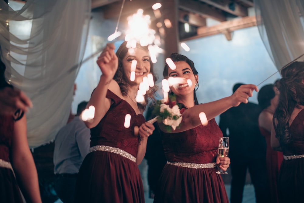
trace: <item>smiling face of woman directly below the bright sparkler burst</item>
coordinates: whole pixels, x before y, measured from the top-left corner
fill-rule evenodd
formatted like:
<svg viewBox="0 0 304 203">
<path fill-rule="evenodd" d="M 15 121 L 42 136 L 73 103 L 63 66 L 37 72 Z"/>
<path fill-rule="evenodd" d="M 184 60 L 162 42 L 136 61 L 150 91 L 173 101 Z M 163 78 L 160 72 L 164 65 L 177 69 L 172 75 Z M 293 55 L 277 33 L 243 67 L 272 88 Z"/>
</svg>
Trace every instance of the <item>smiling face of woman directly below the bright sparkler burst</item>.
<svg viewBox="0 0 304 203">
<path fill-rule="evenodd" d="M 135 80 L 130 81 L 131 77 L 131 64 L 132 61 L 136 60 L 136 69 L 135 69 Z M 122 61 L 123 70 L 125 77 L 128 78 L 130 83 L 140 84 L 143 81 L 143 77 L 147 76 L 150 73 L 150 56 L 146 50 L 135 48 L 133 52 L 129 52 L 123 58 Z"/>
</svg>

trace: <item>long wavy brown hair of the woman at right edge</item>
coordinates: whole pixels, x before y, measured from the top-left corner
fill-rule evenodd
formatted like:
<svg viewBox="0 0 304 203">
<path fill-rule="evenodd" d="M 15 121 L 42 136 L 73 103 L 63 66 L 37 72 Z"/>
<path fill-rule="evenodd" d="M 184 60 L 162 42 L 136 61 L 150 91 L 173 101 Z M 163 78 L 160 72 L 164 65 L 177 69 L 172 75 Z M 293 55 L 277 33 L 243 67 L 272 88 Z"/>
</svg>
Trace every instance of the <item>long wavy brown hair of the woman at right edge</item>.
<svg viewBox="0 0 304 203">
<path fill-rule="evenodd" d="M 304 105 L 304 62 L 289 64 L 282 69 L 281 74 L 282 79 L 276 83 L 280 99 L 273 119 L 278 120 L 276 137 L 281 143 L 288 143 L 291 141 L 288 124 L 290 116 L 294 108 Z"/>
</svg>

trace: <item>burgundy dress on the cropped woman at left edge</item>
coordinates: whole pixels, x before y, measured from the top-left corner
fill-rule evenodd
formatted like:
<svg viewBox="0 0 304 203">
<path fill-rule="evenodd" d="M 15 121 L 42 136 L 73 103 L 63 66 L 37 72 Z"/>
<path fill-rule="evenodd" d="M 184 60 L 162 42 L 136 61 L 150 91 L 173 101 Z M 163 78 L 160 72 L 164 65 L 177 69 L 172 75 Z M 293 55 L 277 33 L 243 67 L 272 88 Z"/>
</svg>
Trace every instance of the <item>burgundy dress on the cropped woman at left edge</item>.
<svg viewBox="0 0 304 203">
<path fill-rule="evenodd" d="M 0 115 L 0 202 L 23 202 L 20 190 L 8 167 L 14 120 L 12 116 Z"/>
</svg>

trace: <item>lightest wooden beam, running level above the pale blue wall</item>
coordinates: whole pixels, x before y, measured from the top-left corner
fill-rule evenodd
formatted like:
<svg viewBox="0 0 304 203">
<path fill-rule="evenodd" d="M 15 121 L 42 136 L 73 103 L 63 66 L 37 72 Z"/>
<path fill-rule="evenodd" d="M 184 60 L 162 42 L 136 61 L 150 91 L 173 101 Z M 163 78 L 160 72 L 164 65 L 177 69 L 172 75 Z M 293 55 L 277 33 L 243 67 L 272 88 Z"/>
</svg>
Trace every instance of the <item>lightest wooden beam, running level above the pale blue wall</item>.
<svg viewBox="0 0 304 203">
<path fill-rule="evenodd" d="M 221 24 L 215 26 L 200 27 L 197 29 L 196 36 L 183 39 L 182 41 L 198 39 L 201 37 L 212 36 L 221 33 L 225 34 L 227 40 L 229 40 L 229 38 L 231 39 L 229 33 L 233 32 L 234 30 L 252 27 L 256 25 L 257 25 L 257 20 L 255 16 L 247 16 L 240 19 L 222 22 Z"/>
</svg>

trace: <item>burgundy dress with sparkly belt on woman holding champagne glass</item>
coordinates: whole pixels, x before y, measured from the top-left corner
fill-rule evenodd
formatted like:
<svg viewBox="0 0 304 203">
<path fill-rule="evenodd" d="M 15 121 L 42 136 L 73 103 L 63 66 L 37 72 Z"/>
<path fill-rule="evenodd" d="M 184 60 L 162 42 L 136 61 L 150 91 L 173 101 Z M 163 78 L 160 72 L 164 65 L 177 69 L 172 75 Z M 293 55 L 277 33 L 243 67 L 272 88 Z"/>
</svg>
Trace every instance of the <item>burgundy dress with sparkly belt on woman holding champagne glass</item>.
<svg viewBox="0 0 304 203">
<path fill-rule="evenodd" d="M 222 131 L 215 119 L 207 126 L 179 133 L 162 133 L 168 162 L 215 163 Z M 187 164 L 189 165 L 189 164 Z M 166 164 L 155 193 L 154 203 L 229 202 L 220 174 L 212 168 L 189 168 Z"/>
</svg>

